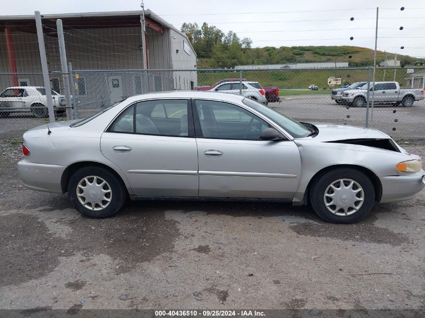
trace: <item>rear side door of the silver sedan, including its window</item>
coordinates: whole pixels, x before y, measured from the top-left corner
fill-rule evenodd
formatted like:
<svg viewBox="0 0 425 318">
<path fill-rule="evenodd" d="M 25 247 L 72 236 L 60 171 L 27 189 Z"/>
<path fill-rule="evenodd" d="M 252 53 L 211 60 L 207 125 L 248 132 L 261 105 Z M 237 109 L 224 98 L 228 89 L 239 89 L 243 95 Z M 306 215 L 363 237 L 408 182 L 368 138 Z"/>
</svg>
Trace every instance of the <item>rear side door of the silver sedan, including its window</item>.
<svg viewBox="0 0 425 318">
<path fill-rule="evenodd" d="M 102 134 L 101 151 L 138 196 L 198 195 L 198 152 L 187 99 L 130 105 Z"/>
</svg>

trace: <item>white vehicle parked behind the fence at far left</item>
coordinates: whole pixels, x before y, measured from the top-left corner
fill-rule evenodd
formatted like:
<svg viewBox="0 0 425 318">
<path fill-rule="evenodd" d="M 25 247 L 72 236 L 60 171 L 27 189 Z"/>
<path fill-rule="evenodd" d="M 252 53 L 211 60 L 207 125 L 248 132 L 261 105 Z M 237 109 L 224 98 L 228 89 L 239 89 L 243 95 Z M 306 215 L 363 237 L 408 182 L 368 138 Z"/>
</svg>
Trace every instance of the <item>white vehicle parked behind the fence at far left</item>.
<svg viewBox="0 0 425 318">
<path fill-rule="evenodd" d="M 66 111 L 65 96 L 52 89 L 53 109 L 55 113 Z M 34 117 L 43 118 L 47 111 L 46 89 L 39 86 L 14 86 L 0 93 L 0 117 L 11 113 L 31 112 Z"/>
</svg>

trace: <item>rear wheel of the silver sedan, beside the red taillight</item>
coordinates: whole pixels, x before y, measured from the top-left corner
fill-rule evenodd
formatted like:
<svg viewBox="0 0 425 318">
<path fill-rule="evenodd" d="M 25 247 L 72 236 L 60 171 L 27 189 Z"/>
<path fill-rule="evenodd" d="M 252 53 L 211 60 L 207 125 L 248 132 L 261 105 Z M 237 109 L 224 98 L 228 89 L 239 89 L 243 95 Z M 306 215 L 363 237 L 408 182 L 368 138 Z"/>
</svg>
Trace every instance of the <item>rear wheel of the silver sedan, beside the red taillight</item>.
<svg viewBox="0 0 425 318">
<path fill-rule="evenodd" d="M 108 218 L 122 207 L 126 190 L 122 181 L 102 167 L 84 167 L 69 179 L 68 196 L 76 209 L 89 218 Z"/>
</svg>

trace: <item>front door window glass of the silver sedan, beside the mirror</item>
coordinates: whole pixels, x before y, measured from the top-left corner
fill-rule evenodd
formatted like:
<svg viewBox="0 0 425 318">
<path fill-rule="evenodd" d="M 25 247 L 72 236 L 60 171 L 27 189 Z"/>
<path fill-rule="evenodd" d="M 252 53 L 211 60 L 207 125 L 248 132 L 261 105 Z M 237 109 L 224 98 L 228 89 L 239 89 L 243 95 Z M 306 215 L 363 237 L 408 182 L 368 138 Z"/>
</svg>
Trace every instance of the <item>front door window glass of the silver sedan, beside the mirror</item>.
<svg viewBox="0 0 425 318">
<path fill-rule="evenodd" d="M 202 135 L 209 138 L 260 140 L 269 127 L 261 118 L 238 107 L 214 100 L 196 100 Z"/>
</svg>

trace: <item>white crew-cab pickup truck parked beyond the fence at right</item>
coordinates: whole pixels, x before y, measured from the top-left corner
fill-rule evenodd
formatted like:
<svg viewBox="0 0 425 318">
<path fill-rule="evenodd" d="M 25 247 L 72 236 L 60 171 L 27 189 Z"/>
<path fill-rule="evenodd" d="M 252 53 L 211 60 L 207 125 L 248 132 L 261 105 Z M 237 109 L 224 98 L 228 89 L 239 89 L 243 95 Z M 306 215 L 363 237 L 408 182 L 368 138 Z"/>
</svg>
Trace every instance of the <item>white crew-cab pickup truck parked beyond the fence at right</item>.
<svg viewBox="0 0 425 318">
<path fill-rule="evenodd" d="M 343 92 L 341 100 L 353 105 L 353 107 L 364 107 L 366 105 L 368 85 L 350 89 Z M 404 107 L 412 107 L 415 100 L 423 99 L 423 89 L 420 88 L 400 88 L 398 82 L 375 82 L 375 87 L 370 84 L 370 98 L 374 92 L 374 103 L 377 104 L 402 104 Z"/>
</svg>

